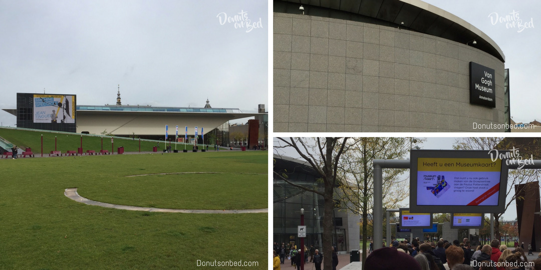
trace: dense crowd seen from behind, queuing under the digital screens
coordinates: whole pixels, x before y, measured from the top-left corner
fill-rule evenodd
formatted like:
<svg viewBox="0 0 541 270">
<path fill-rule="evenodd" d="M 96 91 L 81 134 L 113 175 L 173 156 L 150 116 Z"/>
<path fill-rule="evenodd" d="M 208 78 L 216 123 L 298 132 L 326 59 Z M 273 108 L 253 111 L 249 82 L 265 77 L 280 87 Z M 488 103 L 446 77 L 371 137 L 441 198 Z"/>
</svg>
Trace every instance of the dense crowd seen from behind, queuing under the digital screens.
<svg viewBox="0 0 541 270">
<path fill-rule="evenodd" d="M 531 246 L 529 246 L 531 252 Z M 414 270 L 541 270 L 541 253 L 529 263 L 521 247 L 511 249 L 494 239 L 490 245 L 473 251 L 470 241 L 440 239 L 438 242 L 413 239 L 391 242 L 389 247 L 376 249 L 365 261 L 366 269 Z"/>
</svg>

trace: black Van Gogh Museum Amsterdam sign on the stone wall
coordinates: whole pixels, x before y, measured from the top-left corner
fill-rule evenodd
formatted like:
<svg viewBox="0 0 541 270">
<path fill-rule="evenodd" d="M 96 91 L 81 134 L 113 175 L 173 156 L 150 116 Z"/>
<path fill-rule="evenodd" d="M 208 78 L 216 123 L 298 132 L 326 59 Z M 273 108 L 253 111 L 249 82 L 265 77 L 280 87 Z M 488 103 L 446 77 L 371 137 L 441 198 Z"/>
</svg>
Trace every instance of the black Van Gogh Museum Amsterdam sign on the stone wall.
<svg viewBox="0 0 541 270">
<path fill-rule="evenodd" d="M 496 107 L 494 70 L 470 62 L 470 103 Z"/>
</svg>

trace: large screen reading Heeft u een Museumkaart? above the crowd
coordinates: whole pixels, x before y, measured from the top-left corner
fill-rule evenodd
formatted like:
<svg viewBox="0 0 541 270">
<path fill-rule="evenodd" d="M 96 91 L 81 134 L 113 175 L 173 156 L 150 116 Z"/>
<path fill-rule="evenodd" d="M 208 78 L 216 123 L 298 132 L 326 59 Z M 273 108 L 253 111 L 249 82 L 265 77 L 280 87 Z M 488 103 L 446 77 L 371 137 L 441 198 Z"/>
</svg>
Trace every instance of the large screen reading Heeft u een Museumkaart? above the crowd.
<svg viewBox="0 0 541 270">
<path fill-rule="evenodd" d="M 504 211 L 507 164 L 489 151 L 412 150 L 410 177 L 412 211 Z"/>
</svg>

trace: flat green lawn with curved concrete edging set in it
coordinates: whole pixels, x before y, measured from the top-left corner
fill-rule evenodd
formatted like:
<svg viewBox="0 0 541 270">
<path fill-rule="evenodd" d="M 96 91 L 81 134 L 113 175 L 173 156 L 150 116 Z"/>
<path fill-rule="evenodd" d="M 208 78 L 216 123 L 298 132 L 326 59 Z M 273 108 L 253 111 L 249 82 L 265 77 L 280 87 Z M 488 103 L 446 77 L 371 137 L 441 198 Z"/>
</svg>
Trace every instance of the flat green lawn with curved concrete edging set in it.
<svg viewBox="0 0 541 270">
<path fill-rule="evenodd" d="M 122 205 L 267 208 L 266 151 L 4 159 L 0 168 L 0 269 L 267 268 L 268 214 L 125 211 L 64 196 L 77 187 Z M 219 173 L 127 177 L 180 172 Z"/>
</svg>

